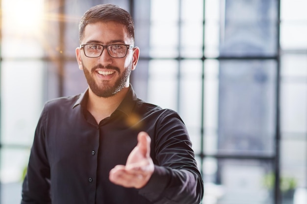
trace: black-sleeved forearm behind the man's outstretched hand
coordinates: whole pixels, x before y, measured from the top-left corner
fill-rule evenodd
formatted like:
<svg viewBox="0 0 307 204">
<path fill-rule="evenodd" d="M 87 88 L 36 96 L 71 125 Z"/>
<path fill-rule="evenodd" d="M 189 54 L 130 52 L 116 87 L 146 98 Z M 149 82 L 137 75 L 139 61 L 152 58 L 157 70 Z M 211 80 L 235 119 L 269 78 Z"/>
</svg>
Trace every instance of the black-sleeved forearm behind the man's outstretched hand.
<svg viewBox="0 0 307 204">
<path fill-rule="evenodd" d="M 203 191 L 199 173 L 155 166 L 151 180 L 139 193 L 154 204 L 200 204 Z"/>
</svg>

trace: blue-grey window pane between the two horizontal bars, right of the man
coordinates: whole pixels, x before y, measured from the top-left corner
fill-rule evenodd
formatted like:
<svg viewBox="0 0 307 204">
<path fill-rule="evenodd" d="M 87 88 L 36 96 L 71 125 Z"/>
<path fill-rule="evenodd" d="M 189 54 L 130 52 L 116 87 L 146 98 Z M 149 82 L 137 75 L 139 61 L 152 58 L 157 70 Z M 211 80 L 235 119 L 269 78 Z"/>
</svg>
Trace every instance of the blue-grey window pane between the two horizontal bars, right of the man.
<svg viewBox="0 0 307 204">
<path fill-rule="evenodd" d="M 274 61 L 221 62 L 218 113 L 221 153 L 273 153 L 275 83 Z"/>
</svg>

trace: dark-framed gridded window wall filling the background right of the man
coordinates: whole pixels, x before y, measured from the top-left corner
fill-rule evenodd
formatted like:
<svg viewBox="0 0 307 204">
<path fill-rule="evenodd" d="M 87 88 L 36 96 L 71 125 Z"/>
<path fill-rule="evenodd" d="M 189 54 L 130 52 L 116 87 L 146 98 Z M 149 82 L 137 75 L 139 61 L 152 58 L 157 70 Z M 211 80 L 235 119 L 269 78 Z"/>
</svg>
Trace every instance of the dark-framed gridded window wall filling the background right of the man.
<svg viewBox="0 0 307 204">
<path fill-rule="evenodd" d="M 150 18 L 140 18 L 143 5 L 135 4 L 136 27 L 149 25 L 150 46 L 136 38 L 148 81 L 133 83 L 147 83 L 137 91 L 185 121 L 205 204 L 306 201 L 304 5 L 154 0 Z"/>
</svg>

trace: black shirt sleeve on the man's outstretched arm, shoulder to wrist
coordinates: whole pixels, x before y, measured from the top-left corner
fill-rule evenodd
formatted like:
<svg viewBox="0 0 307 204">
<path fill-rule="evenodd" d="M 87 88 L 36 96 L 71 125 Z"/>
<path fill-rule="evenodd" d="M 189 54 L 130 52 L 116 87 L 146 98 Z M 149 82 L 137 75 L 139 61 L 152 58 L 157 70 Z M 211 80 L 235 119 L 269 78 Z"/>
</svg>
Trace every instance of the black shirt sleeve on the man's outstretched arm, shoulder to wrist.
<svg viewBox="0 0 307 204">
<path fill-rule="evenodd" d="M 155 125 L 154 172 L 139 193 L 154 204 L 200 204 L 204 183 L 184 123 L 165 110 Z"/>
</svg>

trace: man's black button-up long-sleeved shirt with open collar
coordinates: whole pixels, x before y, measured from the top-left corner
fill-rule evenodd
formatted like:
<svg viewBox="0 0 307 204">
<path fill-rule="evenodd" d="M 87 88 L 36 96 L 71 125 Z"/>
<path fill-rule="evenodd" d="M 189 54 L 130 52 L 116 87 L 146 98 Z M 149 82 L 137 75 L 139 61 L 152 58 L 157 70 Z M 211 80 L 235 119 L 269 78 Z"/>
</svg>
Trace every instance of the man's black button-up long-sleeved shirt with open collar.
<svg viewBox="0 0 307 204">
<path fill-rule="evenodd" d="M 199 204 L 203 181 L 178 113 L 137 98 L 132 87 L 99 124 L 88 91 L 47 102 L 31 148 L 21 204 Z M 137 134 L 151 136 L 154 172 L 141 189 L 109 181 L 126 164 Z"/>
</svg>

